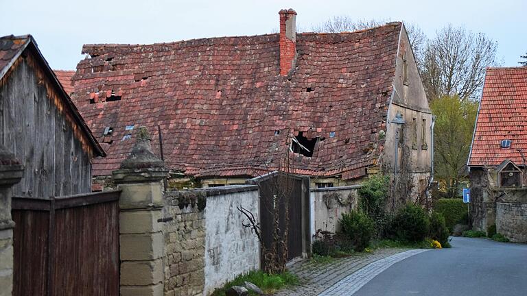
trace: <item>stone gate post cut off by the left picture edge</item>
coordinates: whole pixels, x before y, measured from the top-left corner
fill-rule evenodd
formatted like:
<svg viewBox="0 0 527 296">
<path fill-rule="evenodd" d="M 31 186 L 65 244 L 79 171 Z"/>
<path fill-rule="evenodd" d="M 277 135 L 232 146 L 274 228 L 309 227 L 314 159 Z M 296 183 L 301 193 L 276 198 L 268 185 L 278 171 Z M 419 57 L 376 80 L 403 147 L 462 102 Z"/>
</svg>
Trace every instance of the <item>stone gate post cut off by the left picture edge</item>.
<svg viewBox="0 0 527 296">
<path fill-rule="evenodd" d="M 13 290 L 12 186 L 20 182 L 24 169 L 14 155 L 0 144 L 0 296 Z"/>
</svg>

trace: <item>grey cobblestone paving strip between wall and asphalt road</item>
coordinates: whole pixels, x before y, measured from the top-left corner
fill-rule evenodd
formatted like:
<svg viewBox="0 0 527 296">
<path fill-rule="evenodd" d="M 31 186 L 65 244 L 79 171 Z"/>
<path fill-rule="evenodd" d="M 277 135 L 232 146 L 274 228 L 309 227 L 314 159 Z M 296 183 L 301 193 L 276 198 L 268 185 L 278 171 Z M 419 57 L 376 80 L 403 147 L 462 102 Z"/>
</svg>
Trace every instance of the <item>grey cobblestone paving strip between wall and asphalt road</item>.
<svg viewBox="0 0 527 296">
<path fill-rule="evenodd" d="M 281 290 L 275 296 L 351 295 L 350 289 L 358 289 L 375 275 L 395 262 L 425 251 L 422 249 L 378 249 L 372 253 L 338 258 L 331 262 L 303 260 L 290 267 L 301 280 L 301 285 Z M 378 262 L 378 263 L 377 263 Z M 376 264 L 377 263 L 377 264 Z M 369 265 L 368 265 L 369 264 Z M 362 269 L 363 267 L 366 267 Z"/>
</svg>

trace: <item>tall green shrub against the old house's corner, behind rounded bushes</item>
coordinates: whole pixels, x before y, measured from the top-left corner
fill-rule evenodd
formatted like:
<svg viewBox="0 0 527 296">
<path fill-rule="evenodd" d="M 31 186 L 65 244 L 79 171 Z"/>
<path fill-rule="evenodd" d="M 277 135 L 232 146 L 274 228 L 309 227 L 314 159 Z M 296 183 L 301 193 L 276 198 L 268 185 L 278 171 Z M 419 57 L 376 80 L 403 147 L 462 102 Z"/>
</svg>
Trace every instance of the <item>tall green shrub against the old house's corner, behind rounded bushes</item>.
<svg viewBox="0 0 527 296">
<path fill-rule="evenodd" d="M 373 220 L 377 237 L 384 236 L 390 221 L 386 212 L 389 180 L 385 175 L 372 175 L 358 190 L 360 208 Z"/>
</svg>

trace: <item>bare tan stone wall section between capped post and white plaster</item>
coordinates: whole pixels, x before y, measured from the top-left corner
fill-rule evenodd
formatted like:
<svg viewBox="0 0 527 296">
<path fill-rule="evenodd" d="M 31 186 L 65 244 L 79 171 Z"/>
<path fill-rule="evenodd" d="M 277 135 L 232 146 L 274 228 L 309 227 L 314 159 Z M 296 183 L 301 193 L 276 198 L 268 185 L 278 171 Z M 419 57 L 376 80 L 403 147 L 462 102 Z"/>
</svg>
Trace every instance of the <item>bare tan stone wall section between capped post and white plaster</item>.
<svg viewBox="0 0 527 296">
<path fill-rule="evenodd" d="M 165 194 L 165 296 L 196 296 L 203 293 L 206 202 L 203 192 L 175 191 Z"/>
</svg>

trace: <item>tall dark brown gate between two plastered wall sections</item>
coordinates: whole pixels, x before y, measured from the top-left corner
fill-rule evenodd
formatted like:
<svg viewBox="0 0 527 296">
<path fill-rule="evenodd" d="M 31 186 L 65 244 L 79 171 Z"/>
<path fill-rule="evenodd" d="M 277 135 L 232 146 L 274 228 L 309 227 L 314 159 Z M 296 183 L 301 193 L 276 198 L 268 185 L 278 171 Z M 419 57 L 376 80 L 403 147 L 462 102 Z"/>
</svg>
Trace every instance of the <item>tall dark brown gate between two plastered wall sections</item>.
<svg viewBox="0 0 527 296">
<path fill-rule="evenodd" d="M 283 234 L 285 205 L 288 204 L 288 260 L 308 255 L 311 251 L 309 177 L 274 172 L 249 180 L 248 183 L 257 184 L 259 188 L 259 221 L 263 247 L 270 248 L 272 245 L 273 209 L 277 209 L 279 212 L 279 230 L 280 234 Z M 285 198 L 276 198 L 274 197 L 276 195 L 282 195 Z M 273 206 L 274 203 L 277 203 L 276 207 Z M 260 262 L 261 267 L 264 267 L 263 254 Z"/>
</svg>

